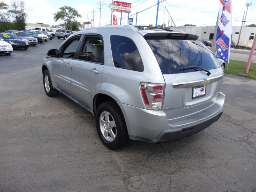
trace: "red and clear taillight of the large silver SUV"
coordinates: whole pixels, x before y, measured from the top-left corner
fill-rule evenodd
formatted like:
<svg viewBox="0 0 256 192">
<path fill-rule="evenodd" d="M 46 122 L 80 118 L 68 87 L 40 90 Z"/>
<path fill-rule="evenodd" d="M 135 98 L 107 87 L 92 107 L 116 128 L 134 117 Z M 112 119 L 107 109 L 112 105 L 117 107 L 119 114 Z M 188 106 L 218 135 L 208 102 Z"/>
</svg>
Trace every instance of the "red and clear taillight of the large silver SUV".
<svg viewBox="0 0 256 192">
<path fill-rule="evenodd" d="M 140 83 L 140 91 L 147 109 L 162 110 L 164 84 Z"/>
</svg>

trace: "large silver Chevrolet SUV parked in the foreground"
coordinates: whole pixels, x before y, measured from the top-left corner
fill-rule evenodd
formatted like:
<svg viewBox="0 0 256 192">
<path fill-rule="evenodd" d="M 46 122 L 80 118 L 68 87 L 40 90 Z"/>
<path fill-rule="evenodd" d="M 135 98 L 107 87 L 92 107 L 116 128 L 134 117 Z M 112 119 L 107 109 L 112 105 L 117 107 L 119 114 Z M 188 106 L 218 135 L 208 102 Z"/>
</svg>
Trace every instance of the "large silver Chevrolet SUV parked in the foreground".
<svg viewBox="0 0 256 192">
<path fill-rule="evenodd" d="M 62 92 L 94 114 L 112 150 L 129 139 L 179 140 L 223 112 L 222 68 L 197 38 L 131 25 L 76 32 L 45 57 L 44 90 L 50 97 Z"/>
</svg>

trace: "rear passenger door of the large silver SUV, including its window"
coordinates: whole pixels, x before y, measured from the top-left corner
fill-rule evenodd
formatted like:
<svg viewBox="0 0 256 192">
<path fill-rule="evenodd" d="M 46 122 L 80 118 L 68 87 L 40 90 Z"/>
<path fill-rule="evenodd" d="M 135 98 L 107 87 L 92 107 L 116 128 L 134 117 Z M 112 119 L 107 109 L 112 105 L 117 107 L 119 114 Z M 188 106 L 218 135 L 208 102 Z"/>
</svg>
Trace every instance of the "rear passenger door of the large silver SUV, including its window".
<svg viewBox="0 0 256 192">
<path fill-rule="evenodd" d="M 77 100 L 86 104 L 91 109 L 92 100 L 99 93 L 102 80 L 102 70 L 104 67 L 103 48 L 101 36 L 86 35 L 77 59 L 72 65 L 72 94 Z"/>
</svg>

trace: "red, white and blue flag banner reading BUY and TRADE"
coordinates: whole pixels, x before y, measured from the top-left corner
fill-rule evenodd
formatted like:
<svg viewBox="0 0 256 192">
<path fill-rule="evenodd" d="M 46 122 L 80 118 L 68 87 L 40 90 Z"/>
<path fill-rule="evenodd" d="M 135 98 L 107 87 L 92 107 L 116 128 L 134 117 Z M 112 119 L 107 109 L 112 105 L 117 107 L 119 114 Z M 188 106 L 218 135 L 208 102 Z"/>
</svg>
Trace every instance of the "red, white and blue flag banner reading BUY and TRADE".
<svg viewBox="0 0 256 192">
<path fill-rule="evenodd" d="M 230 43 L 232 34 L 231 0 L 219 0 L 219 20 L 216 35 L 217 55 L 220 59 L 229 62 Z"/>
</svg>

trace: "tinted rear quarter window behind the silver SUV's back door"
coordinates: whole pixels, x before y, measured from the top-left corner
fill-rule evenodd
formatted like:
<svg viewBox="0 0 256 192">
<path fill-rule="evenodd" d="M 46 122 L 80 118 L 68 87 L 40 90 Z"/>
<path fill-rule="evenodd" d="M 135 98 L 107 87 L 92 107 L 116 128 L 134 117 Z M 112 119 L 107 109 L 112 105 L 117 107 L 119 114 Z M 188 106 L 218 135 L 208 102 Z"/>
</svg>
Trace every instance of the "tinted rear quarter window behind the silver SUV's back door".
<svg viewBox="0 0 256 192">
<path fill-rule="evenodd" d="M 127 37 L 110 36 L 112 58 L 114 66 L 133 71 L 144 71 L 140 53 L 134 42 Z"/>
</svg>

